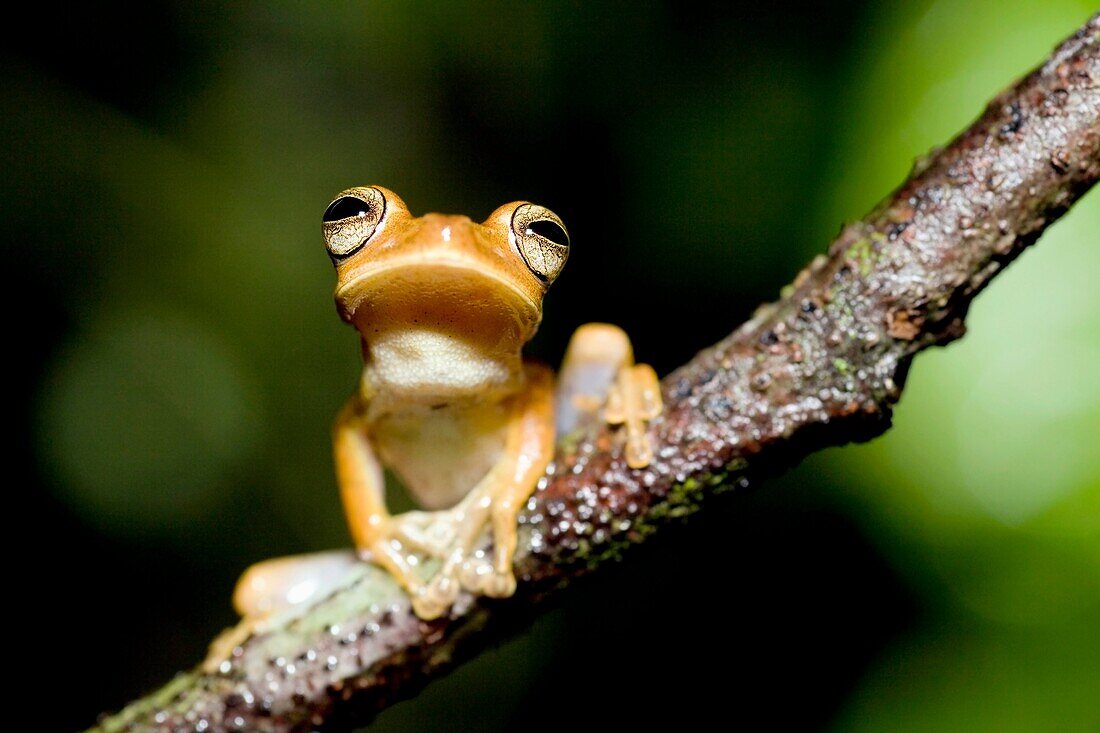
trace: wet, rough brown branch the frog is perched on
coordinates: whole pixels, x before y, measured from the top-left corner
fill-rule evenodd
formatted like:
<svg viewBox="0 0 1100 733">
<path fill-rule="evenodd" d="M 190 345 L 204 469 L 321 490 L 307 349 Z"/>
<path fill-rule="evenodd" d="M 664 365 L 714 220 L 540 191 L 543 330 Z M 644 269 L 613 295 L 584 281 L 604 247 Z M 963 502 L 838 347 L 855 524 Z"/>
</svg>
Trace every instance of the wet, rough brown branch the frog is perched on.
<svg viewBox="0 0 1100 733">
<path fill-rule="evenodd" d="M 424 622 L 364 565 L 296 617 L 105 718 L 102 731 L 342 731 L 529 621 L 541 601 L 707 496 L 890 426 L 912 358 L 1100 176 L 1100 14 L 994 99 L 726 339 L 662 382 L 656 460 L 596 426 L 559 446 L 520 518 L 515 598 Z"/>
</svg>

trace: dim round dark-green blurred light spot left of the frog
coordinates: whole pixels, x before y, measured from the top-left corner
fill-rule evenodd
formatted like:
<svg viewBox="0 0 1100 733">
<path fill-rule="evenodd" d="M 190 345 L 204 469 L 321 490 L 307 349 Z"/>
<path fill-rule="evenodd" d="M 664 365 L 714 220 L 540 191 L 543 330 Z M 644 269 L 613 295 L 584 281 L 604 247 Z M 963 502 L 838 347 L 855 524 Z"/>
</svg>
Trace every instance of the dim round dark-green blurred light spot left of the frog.
<svg viewBox="0 0 1100 733">
<path fill-rule="evenodd" d="M 187 534 L 262 439 L 258 395 L 232 349 L 186 315 L 103 316 L 47 379 L 40 444 L 86 521 Z"/>
</svg>

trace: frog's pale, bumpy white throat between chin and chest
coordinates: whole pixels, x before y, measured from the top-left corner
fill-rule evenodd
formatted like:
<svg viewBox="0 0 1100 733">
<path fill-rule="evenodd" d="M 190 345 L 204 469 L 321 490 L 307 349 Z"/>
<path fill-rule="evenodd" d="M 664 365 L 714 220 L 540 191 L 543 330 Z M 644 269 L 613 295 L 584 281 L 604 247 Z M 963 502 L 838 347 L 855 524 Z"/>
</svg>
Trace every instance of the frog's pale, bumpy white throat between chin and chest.
<svg viewBox="0 0 1100 733">
<path fill-rule="evenodd" d="M 522 384 L 518 349 L 403 328 L 363 342 L 363 396 L 372 412 L 439 409 L 498 400 Z"/>
</svg>

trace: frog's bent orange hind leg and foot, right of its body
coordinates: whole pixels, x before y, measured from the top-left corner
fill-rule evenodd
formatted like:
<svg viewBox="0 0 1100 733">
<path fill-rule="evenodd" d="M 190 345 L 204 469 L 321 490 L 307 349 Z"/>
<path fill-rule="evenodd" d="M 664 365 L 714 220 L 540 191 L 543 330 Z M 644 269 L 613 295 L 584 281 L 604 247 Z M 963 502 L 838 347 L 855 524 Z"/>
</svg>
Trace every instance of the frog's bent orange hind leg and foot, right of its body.
<svg viewBox="0 0 1100 733">
<path fill-rule="evenodd" d="M 604 406 L 604 419 L 626 431 L 626 461 L 645 468 L 653 459 L 646 436 L 661 414 L 661 385 L 649 364 L 634 363 L 626 332 L 609 324 L 585 324 L 573 333 L 558 379 L 558 434 L 576 428 Z"/>
</svg>

